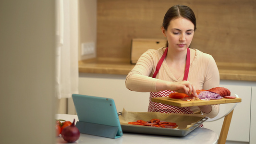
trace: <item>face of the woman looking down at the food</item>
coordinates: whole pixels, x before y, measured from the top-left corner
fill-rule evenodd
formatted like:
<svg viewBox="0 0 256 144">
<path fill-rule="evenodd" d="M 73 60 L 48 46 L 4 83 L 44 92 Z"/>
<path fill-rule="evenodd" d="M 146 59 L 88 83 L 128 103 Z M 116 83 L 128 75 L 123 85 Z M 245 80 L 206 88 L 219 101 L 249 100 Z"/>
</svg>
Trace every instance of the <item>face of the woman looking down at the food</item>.
<svg viewBox="0 0 256 144">
<path fill-rule="evenodd" d="M 194 24 L 183 17 L 172 19 L 167 30 L 162 27 L 162 32 L 167 38 L 169 48 L 178 51 L 189 47 L 194 36 Z"/>
</svg>

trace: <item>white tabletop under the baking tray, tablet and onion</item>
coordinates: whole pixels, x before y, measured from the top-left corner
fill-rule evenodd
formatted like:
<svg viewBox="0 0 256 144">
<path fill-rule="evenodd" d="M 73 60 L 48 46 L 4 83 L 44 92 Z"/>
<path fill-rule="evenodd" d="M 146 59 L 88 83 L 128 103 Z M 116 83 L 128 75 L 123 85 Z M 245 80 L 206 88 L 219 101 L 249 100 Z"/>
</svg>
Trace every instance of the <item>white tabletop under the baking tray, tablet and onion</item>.
<svg viewBox="0 0 256 144">
<path fill-rule="evenodd" d="M 56 119 L 73 121 L 77 115 L 56 114 Z M 196 128 L 184 137 L 171 137 L 138 133 L 123 133 L 121 138 L 110 139 L 89 134 L 80 134 L 80 138 L 73 144 L 217 144 L 218 134 L 206 129 Z M 57 144 L 66 143 L 63 138 L 57 137 Z"/>
</svg>

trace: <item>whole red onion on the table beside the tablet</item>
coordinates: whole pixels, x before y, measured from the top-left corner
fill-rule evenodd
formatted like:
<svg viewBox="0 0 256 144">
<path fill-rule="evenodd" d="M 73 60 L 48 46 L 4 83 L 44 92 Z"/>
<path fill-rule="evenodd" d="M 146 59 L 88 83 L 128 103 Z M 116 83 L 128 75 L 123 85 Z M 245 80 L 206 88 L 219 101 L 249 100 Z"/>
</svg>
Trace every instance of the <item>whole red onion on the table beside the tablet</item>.
<svg viewBox="0 0 256 144">
<path fill-rule="evenodd" d="M 73 143 L 79 139 L 80 132 L 77 127 L 75 127 L 74 120 L 70 126 L 67 126 L 62 130 L 61 136 L 65 141 L 69 143 Z"/>
</svg>

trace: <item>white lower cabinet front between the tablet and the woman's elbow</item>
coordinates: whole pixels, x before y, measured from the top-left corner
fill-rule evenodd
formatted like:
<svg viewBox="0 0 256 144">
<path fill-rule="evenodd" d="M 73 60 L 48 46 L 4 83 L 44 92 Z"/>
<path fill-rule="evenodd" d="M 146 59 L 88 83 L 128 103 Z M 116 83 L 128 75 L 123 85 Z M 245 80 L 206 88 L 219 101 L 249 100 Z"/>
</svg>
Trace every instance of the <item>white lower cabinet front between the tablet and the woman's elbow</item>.
<svg viewBox="0 0 256 144">
<path fill-rule="evenodd" d="M 113 98 L 117 111 L 147 111 L 149 93 L 125 87 L 125 75 L 79 73 L 79 94 Z"/>
</svg>

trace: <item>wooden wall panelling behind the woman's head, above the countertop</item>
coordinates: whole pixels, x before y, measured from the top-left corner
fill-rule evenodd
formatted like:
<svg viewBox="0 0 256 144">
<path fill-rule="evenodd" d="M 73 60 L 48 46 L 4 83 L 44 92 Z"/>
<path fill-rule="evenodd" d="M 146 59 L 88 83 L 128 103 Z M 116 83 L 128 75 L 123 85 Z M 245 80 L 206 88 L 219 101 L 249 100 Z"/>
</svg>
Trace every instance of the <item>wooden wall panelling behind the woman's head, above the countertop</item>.
<svg viewBox="0 0 256 144">
<path fill-rule="evenodd" d="M 164 38 L 162 20 L 175 4 L 195 12 L 192 48 L 217 62 L 256 63 L 255 0 L 98 0 L 98 57 L 129 61 L 133 38 Z"/>
</svg>

